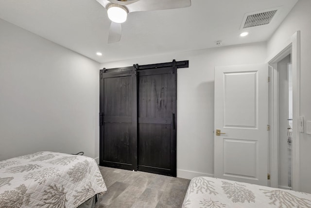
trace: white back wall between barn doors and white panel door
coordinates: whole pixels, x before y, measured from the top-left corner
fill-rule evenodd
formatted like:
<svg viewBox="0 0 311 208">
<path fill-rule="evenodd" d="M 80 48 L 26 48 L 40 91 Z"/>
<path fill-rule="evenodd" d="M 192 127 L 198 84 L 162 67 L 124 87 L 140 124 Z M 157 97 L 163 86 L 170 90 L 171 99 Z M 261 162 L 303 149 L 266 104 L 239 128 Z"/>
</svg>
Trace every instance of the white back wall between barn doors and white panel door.
<svg viewBox="0 0 311 208">
<path fill-rule="evenodd" d="M 214 173 L 214 67 L 264 63 L 265 43 L 163 54 L 104 63 L 114 68 L 189 60 L 177 70 L 177 176 L 212 176 Z"/>
</svg>

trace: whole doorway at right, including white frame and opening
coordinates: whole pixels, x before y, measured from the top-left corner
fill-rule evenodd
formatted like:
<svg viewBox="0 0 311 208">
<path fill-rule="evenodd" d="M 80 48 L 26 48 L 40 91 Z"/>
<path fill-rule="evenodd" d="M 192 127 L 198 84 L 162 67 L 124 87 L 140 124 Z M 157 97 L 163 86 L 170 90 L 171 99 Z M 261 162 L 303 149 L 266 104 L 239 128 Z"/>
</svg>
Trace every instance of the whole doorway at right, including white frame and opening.
<svg viewBox="0 0 311 208">
<path fill-rule="evenodd" d="M 299 190 L 300 32 L 269 64 L 270 186 Z"/>
</svg>

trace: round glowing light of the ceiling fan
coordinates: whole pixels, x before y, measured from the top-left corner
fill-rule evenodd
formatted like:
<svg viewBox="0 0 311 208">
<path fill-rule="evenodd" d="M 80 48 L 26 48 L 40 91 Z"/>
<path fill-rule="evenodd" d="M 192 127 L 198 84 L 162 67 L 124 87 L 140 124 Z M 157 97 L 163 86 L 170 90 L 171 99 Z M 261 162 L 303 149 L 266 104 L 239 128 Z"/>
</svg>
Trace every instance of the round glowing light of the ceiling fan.
<svg viewBox="0 0 311 208">
<path fill-rule="evenodd" d="M 128 10 L 125 6 L 119 4 L 110 4 L 107 7 L 107 14 L 111 21 L 116 23 L 123 23 L 127 19 Z"/>
</svg>

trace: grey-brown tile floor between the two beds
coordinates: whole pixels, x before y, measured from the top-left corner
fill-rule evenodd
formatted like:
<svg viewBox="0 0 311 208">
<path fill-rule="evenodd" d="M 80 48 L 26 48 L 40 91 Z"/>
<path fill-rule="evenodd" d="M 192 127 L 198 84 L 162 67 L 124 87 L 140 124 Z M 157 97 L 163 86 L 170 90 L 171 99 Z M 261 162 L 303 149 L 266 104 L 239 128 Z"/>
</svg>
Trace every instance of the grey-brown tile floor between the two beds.
<svg viewBox="0 0 311 208">
<path fill-rule="evenodd" d="M 101 167 L 108 191 L 95 208 L 180 208 L 190 180 Z"/>
</svg>

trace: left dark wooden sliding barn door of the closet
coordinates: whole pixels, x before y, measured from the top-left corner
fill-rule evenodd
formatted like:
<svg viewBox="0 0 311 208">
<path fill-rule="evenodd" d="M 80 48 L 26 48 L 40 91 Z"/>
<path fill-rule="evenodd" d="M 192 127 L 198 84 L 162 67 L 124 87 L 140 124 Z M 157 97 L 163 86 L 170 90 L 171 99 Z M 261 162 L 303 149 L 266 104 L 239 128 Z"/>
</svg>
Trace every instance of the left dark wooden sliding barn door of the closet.
<svg viewBox="0 0 311 208">
<path fill-rule="evenodd" d="M 100 165 L 137 170 L 137 76 L 101 70 Z"/>
</svg>

